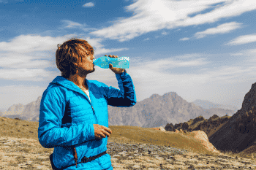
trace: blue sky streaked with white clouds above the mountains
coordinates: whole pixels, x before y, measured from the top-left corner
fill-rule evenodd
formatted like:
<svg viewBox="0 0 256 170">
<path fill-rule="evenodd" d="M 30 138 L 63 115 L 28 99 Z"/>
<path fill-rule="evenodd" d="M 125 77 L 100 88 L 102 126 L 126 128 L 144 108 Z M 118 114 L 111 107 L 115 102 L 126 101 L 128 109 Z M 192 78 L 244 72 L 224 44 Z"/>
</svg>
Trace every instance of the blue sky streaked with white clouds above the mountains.
<svg viewBox="0 0 256 170">
<path fill-rule="evenodd" d="M 256 80 L 255 0 L 0 0 L 1 109 L 42 96 L 61 72 L 57 45 L 129 57 L 137 101 L 176 92 L 241 109 Z M 118 88 L 110 69 L 88 80 Z"/>
</svg>

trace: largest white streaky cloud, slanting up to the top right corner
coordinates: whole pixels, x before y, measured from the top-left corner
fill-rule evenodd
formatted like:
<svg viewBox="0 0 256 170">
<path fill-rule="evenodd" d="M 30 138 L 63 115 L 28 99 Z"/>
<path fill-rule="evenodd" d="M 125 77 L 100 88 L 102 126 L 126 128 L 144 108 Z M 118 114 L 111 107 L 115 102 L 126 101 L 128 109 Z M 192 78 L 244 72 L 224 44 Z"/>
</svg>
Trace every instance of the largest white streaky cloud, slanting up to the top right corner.
<svg viewBox="0 0 256 170">
<path fill-rule="evenodd" d="M 223 4 L 212 6 L 217 3 Z M 163 28 L 197 26 L 214 23 L 222 18 L 238 16 L 256 9 L 256 3 L 252 0 L 138 0 L 129 5 L 127 9 L 133 11 L 135 15 L 118 20 L 112 26 L 93 31 L 91 34 L 123 42 Z M 206 9 L 212 10 L 200 14 Z M 192 14 L 196 15 L 189 17 Z"/>
</svg>

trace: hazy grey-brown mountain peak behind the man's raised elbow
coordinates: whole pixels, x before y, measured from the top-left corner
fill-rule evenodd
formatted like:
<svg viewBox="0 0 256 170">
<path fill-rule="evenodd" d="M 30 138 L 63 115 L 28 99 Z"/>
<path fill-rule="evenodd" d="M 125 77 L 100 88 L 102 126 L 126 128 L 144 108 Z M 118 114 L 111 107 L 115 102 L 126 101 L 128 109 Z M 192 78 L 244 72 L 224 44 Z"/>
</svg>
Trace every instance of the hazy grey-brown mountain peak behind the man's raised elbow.
<svg viewBox="0 0 256 170">
<path fill-rule="evenodd" d="M 110 125 L 132 125 L 143 128 L 165 126 L 167 123 L 177 123 L 186 117 L 205 115 L 202 108 L 189 104 L 175 92 L 163 96 L 153 94 L 151 97 L 137 102 L 128 108 L 108 107 Z"/>
</svg>

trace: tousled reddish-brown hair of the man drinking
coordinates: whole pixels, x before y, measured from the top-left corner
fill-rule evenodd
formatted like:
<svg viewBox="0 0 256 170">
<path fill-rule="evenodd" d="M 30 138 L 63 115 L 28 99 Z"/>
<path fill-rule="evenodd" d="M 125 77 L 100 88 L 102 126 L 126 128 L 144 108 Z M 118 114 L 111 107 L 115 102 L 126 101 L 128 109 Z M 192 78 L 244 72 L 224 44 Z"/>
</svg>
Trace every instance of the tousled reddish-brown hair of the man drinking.
<svg viewBox="0 0 256 170">
<path fill-rule="evenodd" d="M 70 74 L 75 74 L 79 58 L 82 61 L 83 55 L 94 55 L 94 48 L 83 39 L 69 39 L 62 45 L 58 45 L 56 50 L 56 65 L 61 71 L 61 76 L 68 78 Z"/>
</svg>

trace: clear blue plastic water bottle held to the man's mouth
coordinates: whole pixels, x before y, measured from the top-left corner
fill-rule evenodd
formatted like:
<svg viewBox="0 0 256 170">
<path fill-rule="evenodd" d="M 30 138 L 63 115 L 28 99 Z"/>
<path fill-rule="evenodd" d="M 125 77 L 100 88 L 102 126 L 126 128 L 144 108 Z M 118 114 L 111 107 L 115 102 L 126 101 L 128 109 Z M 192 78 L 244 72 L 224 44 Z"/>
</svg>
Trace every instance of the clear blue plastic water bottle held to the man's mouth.
<svg viewBox="0 0 256 170">
<path fill-rule="evenodd" d="M 110 63 L 116 68 L 129 69 L 129 57 L 110 58 L 108 56 L 102 56 L 94 59 L 93 62 L 94 65 L 99 66 L 102 69 L 108 69 Z"/>
</svg>

